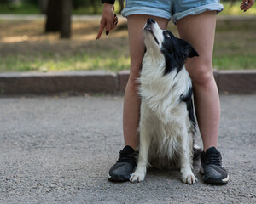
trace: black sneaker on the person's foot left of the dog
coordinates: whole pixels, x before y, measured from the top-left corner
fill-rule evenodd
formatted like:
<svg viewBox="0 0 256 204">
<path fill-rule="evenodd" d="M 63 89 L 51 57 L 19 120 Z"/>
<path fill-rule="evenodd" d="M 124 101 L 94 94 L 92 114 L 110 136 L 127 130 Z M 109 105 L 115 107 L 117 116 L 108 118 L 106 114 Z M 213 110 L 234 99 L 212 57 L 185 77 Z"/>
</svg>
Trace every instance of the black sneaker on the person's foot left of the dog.
<svg viewBox="0 0 256 204">
<path fill-rule="evenodd" d="M 131 146 L 125 146 L 119 154 L 119 160 L 109 170 L 108 179 L 110 181 L 129 181 L 131 173 L 137 166 L 137 152 Z"/>
</svg>

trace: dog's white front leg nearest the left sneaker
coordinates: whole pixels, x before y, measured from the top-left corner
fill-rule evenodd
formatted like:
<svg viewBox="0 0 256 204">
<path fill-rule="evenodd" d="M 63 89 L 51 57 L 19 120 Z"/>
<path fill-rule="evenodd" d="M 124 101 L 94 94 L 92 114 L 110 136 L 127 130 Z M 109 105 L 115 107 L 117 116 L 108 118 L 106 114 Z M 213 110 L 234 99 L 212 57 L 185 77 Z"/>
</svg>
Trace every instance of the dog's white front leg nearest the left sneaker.
<svg viewBox="0 0 256 204">
<path fill-rule="evenodd" d="M 142 117 L 143 118 L 143 117 Z M 151 143 L 151 138 L 148 133 L 147 127 L 145 126 L 146 122 L 141 122 L 140 125 L 140 149 L 137 168 L 134 173 L 131 174 L 130 181 L 133 182 L 142 182 L 146 176 L 147 164 L 148 164 L 148 149 Z"/>
</svg>

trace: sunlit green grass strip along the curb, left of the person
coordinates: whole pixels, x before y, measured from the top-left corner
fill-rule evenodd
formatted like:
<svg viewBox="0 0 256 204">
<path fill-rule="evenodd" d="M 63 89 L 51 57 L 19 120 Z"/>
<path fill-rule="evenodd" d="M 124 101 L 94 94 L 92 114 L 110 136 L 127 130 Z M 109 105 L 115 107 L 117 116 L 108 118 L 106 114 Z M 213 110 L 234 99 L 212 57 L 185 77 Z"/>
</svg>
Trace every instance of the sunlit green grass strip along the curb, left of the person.
<svg viewBox="0 0 256 204">
<path fill-rule="evenodd" d="M 109 53 L 110 55 L 113 52 Z M 3 71 L 79 71 L 79 70 L 108 70 L 122 71 L 130 68 L 130 59 L 119 56 L 101 57 L 99 54 L 74 54 L 71 56 L 58 56 L 55 54 L 34 55 L 32 58 L 18 55 L 0 59 L 1 72 Z"/>
</svg>

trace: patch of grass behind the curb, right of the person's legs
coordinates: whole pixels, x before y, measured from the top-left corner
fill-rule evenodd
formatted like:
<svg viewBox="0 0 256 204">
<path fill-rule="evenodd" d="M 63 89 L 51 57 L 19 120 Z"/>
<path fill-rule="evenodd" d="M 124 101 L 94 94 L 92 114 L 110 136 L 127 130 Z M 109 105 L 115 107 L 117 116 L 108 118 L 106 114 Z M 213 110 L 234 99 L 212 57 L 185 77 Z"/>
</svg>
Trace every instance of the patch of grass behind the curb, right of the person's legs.
<svg viewBox="0 0 256 204">
<path fill-rule="evenodd" d="M 213 66 L 218 70 L 256 69 L 255 20 L 218 20 Z"/>
</svg>

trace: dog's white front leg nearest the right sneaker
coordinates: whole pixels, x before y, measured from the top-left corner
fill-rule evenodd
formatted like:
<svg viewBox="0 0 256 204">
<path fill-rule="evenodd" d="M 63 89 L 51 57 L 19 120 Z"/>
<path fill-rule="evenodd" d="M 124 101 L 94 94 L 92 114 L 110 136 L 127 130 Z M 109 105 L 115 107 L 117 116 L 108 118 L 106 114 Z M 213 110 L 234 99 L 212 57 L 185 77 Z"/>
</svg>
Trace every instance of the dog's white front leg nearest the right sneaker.
<svg viewBox="0 0 256 204">
<path fill-rule="evenodd" d="M 185 128 L 184 128 L 185 129 Z M 189 142 L 189 137 L 192 136 L 189 135 L 187 130 L 183 131 L 183 139 L 182 139 L 182 146 L 183 150 L 181 151 L 180 154 L 180 159 L 181 159 L 181 169 L 180 172 L 182 173 L 182 181 L 185 184 L 195 184 L 197 182 L 197 178 L 195 178 L 194 173 L 192 172 L 191 166 L 192 166 L 192 157 L 191 157 L 191 152 L 192 152 L 192 143 Z M 190 147 L 191 144 L 191 147 Z"/>
</svg>

